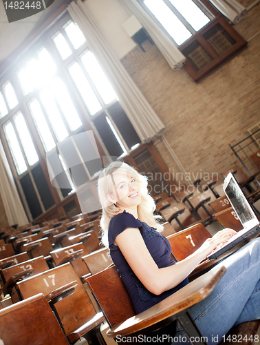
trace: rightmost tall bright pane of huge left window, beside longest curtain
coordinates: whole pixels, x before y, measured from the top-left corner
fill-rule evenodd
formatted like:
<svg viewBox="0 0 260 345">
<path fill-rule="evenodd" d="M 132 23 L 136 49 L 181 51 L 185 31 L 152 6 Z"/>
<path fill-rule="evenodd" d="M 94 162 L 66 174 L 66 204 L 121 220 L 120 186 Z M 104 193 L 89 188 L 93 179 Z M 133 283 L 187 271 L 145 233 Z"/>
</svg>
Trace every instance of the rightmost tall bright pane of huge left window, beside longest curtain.
<svg viewBox="0 0 260 345">
<path fill-rule="evenodd" d="M 94 54 L 88 51 L 83 55 L 81 60 L 105 104 L 116 99 L 116 93 L 105 76 L 105 73 L 102 71 Z"/>
</svg>

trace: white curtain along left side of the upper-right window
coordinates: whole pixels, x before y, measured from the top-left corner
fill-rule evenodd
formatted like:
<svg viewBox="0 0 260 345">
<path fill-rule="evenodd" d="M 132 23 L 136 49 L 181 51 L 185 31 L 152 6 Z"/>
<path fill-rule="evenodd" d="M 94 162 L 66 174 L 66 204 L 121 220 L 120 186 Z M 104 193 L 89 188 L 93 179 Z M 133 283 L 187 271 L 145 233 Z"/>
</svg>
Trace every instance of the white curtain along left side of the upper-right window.
<svg viewBox="0 0 260 345">
<path fill-rule="evenodd" d="M 128 10 L 128 12 L 135 14 L 139 19 L 142 26 L 147 30 L 155 45 L 158 47 L 162 55 L 169 63 L 169 66 L 173 70 L 177 70 L 182 67 L 185 57 L 178 50 L 177 46 L 170 37 L 158 26 L 149 14 L 142 8 L 137 0 L 120 0 L 120 3 Z"/>
</svg>

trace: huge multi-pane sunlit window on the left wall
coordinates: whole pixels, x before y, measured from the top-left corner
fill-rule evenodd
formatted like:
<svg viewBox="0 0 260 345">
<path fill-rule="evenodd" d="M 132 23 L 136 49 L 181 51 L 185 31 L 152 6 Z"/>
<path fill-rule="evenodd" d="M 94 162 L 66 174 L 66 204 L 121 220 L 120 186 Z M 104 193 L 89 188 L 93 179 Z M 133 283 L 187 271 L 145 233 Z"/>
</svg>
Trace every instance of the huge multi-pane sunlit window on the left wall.
<svg viewBox="0 0 260 345">
<path fill-rule="evenodd" d="M 0 80 L 1 137 L 31 219 L 55 204 L 46 154 L 89 124 L 107 155 L 125 155 L 140 143 L 83 33 L 65 14 Z M 95 168 L 84 168 L 91 179 Z M 71 191 L 58 189 L 58 196 Z"/>
</svg>

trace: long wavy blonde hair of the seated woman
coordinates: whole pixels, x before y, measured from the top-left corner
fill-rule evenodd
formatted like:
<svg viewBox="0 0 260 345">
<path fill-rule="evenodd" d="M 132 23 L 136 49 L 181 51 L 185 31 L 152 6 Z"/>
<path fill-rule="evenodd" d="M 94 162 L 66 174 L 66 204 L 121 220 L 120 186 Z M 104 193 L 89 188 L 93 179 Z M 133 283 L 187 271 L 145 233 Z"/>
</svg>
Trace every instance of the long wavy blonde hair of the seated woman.
<svg viewBox="0 0 260 345">
<path fill-rule="evenodd" d="M 102 217 L 100 219 L 100 226 L 102 228 L 102 244 L 108 247 L 108 228 L 111 218 L 117 215 L 120 212 L 120 208 L 116 205 L 111 204 L 107 200 L 107 195 L 113 193 L 113 173 L 115 172 L 124 172 L 129 177 L 136 179 L 138 184 L 140 184 L 140 191 L 142 201 L 138 205 L 138 219 L 144 221 L 149 226 L 156 228 L 159 232 L 163 230 L 162 224 L 158 223 L 158 219 L 161 219 L 158 215 L 153 215 L 155 210 L 155 201 L 149 195 L 147 190 L 147 177 L 141 175 L 135 168 L 129 166 L 122 161 L 113 161 L 109 166 L 107 166 L 98 177 L 98 195 L 100 203 L 102 205 Z"/>
</svg>

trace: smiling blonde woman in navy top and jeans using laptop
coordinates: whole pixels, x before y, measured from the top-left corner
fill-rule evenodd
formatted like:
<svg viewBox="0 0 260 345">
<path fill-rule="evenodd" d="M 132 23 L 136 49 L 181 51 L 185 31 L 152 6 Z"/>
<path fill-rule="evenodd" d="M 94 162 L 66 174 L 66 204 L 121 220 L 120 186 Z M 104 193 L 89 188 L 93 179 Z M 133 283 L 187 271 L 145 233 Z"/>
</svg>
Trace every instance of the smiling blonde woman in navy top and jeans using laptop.
<svg viewBox="0 0 260 345">
<path fill-rule="evenodd" d="M 155 203 L 148 193 L 146 177 L 116 161 L 100 173 L 98 193 L 102 243 L 109 247 L 136 313 L 188 284 L 187 277 L 199 262 L 236 234 L 229 228 L 221 230 L 193 255 L 175 264 L 169 241 L 160 234 L 162 225 L 153 215 Z M 255 239 L 221 262 L 227 268 L 226 275 L 209 297 L 190 309 L 208 344 L 220 342 L 235 324 L 260 318 L 259 257 L 260 239 Z M 155 334 L 173 337 L 175 332 L 173 322 Z M 183 344 L 185 333 L 179 329 L 176 336 Z"/>
</svg>

